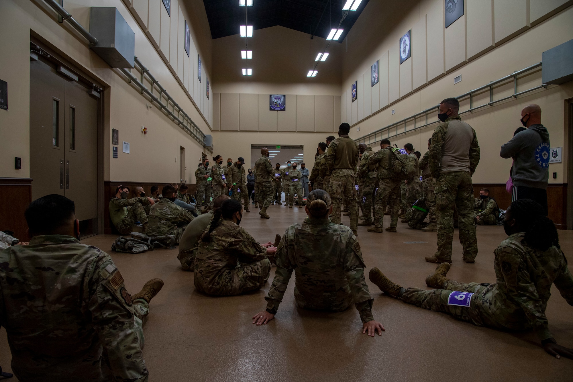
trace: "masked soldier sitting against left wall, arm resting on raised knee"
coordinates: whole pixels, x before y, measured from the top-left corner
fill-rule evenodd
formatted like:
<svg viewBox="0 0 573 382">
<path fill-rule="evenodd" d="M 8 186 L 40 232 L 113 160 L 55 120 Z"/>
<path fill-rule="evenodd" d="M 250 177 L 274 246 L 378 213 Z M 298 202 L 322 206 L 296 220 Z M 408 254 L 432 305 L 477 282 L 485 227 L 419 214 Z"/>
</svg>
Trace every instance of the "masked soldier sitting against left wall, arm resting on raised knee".
<svg viewBox="0 0 573 382">
<path fill-rule="evenodd" d="M 136 221 L 148 227 L 146 205 L 153 205 L 155 200 L 150 197 L 127 198 L 129 187 L 117 186 L 116 194 L 109 201 L 109 217 L 121 235 L 129 235 Z"/>
</svg>

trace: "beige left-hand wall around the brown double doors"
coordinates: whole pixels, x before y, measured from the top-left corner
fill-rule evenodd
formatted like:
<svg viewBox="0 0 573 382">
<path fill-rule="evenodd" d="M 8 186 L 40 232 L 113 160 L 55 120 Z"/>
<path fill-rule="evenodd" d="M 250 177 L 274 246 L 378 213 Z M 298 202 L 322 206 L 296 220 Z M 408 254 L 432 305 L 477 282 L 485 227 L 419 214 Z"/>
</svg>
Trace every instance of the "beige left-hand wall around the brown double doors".
<svg viewBox="0 0 573 382">
<path fill-rule="evenodd" d="M 210 129 L 191 102 L 163 57 L 123 2 L 112 0 L 79 0 L 66 2 L 65 8 L 89 30 L 89 6 L 117 7 L 135 33 L 135 54 L 157 80 L 198 124 L 203 132 Z M 159 12 L 159 9 L 158 9 Z M 174 15 L 175 12 L 172 12 Z M 44 2 L 5 0 L 0 2 L 0 79 L 9 87 L 9 110 L 0 110 L 0 177 L 29 177 L 29 89 L 30 34 L 45 40 L 62 52 L 88 75 L 105 84 L 104 180 L 174 182 L 179 180 L 179 147 L 186 148 L 186 179 L 194 182 L 196 163 L 204 150 L 175 123 L 152 106 L 139 89 L 125 81 L 117 69 L 111 69 L 88 48 L 87 41 L 66 22 L 58 24 L 56 15 Z M 180 44 L 179 52 L 183 52 Z M 171 51 L 170 51 L 171 54 Z M 150 103 L 151 104 L 151 103 Z M 141 132 L 147 127 L 148 134 Z M 131 154 L 112 158 L 111 129 L 119 130 L 121 141 L 129 142 Z M 94 142 L 95 144 L 95 142 Z M 14 170 L 14 157 L 22 158 L 22 169 Z"/>
</svg>

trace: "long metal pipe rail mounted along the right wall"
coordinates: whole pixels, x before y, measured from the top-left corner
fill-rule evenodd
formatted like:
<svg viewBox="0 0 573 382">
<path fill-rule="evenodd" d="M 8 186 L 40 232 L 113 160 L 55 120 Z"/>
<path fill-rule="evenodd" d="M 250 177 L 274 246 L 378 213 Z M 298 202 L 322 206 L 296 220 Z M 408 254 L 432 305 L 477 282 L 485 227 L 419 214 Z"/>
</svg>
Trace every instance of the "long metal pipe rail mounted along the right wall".
<svg viewBox="0 0 573 382">
<path fill-rule="evenodd" d="M 535 91 L 535 90 L 537 90 L 537 89 L 547 88 L 547 86 L 548 86 L 547 84 L 541 84 L 541 85 L 539 85 L 539 86 L 532 87 L 532 88 L 529 88 L 529 89 L 524 90 L 524 91 L 521 91 L 521 92 L 517 92 L 517 76 L 519 76 L 519 75 L 521 75 L 521 74 L 523 74 L 523 73 L 532 71 L 533 69 L 539 68 L 540 66 L 541 66 L 541 62 L 536 63 L 536 64 L 533 64 L 533 65 L 531 65 L 531 66 L 529 66 L 529 67 L 527 67 L 527 68 L 521 69 L 520 71 L 513 72 L 513 73 L 511 73 L 510 75 L 501 77 L 500 79 L 491 81 L 491 82 L 488 83 L 488 84 L 485 84 L 485 85 L 483 85 L 483 86 L 480 86 L 480 87 L 478 87 L 478 88 L 476 88 L 476 89 L 470 90 L 470 91 L 468 91 L 468 92 L 466 92 L 466 93 L 464 93 L 464 94 L 462 94 L 462 95 L 457 96 L 457 97 L 456 97 L 457 100 L 460 100 L 460 99 L 463 99 L 463 98 L 466 98 L 466 97 L 469 97 L 469 99 L 470 99 L 470 107 L 469 107 L 469 109 L 468 109 L 468 110 L 465 110 L 465 111 L 462 111 L 462 112 L 460 112 L 460 113 L 458 113 L 458 114 L 461 115 L 461 114 L 465 114 L 465 113 L 467 113 L 467 112 L 473 112 L 474 110 L 478 110 L 478 109 L 480 109 L 480 108 L 482 108 L 482 107 L 492 106 L 493 104 L 496 104 L 496 103 L 498 103 L 498 102 L 502 102 L 502 101 L 505 101 L 505 100 L 508 100 L 508 99 L 511 99 L 511 98 L 517 98 L 517 96 L 520 96 L 520 95 L 523 95 L 523 94 L 525 94 L 525 93 L 529 93 L 529 92 Z M 494 87 L 494 85 L 503 83 L 504 81 L 511 80 L 511 79 L 513 79 L 513 81 L 514 81 L 513 94 L 512 94 L 512 95 L 509 95 L 509 96 L 507 96 L 507 97 L 501 98 L 501 99 L 494 100 L 494 99 L 493 99 L 493 87 Z M 484 104 L 482 104 L 482 105 L 480 105 L 480 106 L 474 107 L 474 106 L 473 106 L 473 95 L 476 94 L 476 93 L 478 93 L 478 92 L 480 92 L 480 91 L 482 91 L 482 90 L 488 89 L 488 88 L 490 89 L 490 92 L 489 92 L 489 94 L 490 94 L 490 95 L 489 95 L 489 102 L 484 103 Z M 430 108 L 427 108 L 426 110 L 422 110 L 422 111 L 420 111 L 420 112 L 417 112 L 416 114 L 410 115 L 409 117 L 406 117 L 406 118 L 401 119 L 401 120 L 399 120 L 399 121 L 397 121 L 397 122 L 388 124 L 387 126 L 384 126 L 384 127 L 382 127 L 382 128 L 379 128 L 378 130 L 372 131 L 372 132 L 370 132 L 369 134 L 363 135 L 362 137 L 357 138 L 357 139 L 355 139 L 354 141 L 357 142 L 357 143 L 366 143 L 366 144 L 370 145 L 371 143 L 375 143 L 375 142 L 378 142 L 378 141 L 382 141 L 382 139 L 384 139 L 384 138 L 397 137 L 398 135 L 406 134 L 407 132 L 415 131 L 415 130 L 418 130 L 419 128 L 423 128 L 423 127 L 430 126 L 431 124 L 434 124 L 434 123 L 439 122 L 439 120 L 434 120 L 434 121 L 432 121 L 432 122 L 428 122 L 428 120 L 427 120 L 428 113 L 431 112 L 431 111 L 437 110 L 438 108 L 439 108 L 439 105 L 432 106 L 432 107 L 430 107 Z M 417 119 L 419 116 L 421 116 L 421 115 L 425 115 L 425 116 L 426 116 L 426 121 L 425 121 L 426 123 L 425 123 L 425 124 L 422 124 L 422 125 L 420 125 L 420 126 L 417 126 L 417 124 L 416 124 L 416 119 Z M 407 129 L 407 123 L 408 123 L 408 121 L 411 121 L 411 120 L 413 120 L 414 127 L 413 127 L 413 128 L 410 128 L 410 129 Z M 410 122 L 410 123 L 411 123 L 411 122 Z M 398 126 L 401 125 L 401 124 L 404 124 L 404 131 L 398 132 Z M 390 129 L 391 129 L 391 128 L 396 128 L 395 134 L 390 135 Z M 386 132 L 387 134 L 384 134 L 384 132 Z M 384 137 L 383 137 L 383 135 L 384 135 Z M 377 138 L 376 136 L 378 136 L 379 138 Z M 372 138 L 374 138 L 374 139 L 372 139 Z"/>
</svg>

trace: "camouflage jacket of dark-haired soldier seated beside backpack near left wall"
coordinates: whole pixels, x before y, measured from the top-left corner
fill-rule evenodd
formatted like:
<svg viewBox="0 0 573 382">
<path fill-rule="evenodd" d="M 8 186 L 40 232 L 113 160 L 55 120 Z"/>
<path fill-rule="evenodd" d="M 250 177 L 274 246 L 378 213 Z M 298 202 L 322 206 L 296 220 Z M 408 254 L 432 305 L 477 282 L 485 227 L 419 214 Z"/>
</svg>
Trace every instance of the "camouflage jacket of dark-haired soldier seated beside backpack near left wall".
<svg viewBox="0 0 573 382">
<path fill-rule="evenodd" d="M 164 236 L 172 235 L 171 232 L 176 228 L 186 226 L 193 220 L 193 215 L 171 200 L 161 198 L 151 206 L 151 212 L 147 219 L 149 220 L 147 235 Z"/>
</svg>

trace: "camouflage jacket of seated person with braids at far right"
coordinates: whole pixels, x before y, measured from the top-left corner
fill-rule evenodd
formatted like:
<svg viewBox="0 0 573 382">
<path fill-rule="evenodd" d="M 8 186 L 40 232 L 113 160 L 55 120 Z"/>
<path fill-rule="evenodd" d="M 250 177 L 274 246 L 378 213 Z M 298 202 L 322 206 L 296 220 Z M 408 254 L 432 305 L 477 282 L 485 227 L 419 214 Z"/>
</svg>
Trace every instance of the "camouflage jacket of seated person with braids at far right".
<svg viewBox="0 0 573 382">
<path fill-rule="evenodd" d="M 573 276 L 563 251 L 556 247 L 535 250 L 523 237 L 523 232 L 514 233 L 494 251 L 497 294 L 492 293 L 492 303 L 500 304 L 504 326 L 512 329 L 513 322 L 528 322 L 539 339 L 545 340 L 553 337 L 545 317 L 551 284 L 573 305 Z"/>
</svg>

